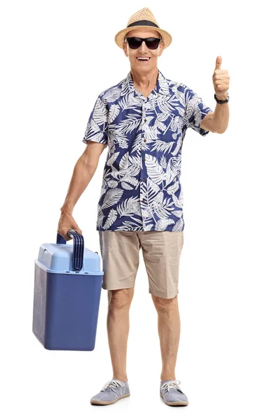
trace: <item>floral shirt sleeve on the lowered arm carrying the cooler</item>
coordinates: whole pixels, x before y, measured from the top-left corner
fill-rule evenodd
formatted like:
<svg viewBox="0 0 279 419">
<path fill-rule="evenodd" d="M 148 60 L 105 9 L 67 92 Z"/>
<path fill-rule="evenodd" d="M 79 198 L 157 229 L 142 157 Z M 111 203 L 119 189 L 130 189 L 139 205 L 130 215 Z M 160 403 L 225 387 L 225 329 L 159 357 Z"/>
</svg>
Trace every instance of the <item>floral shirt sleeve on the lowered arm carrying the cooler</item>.
<svg viewBox="0 0 279 419">
<path fill-rule="evenodd" d="M 107 108 L 107 103 L 103 101 L 102 95 L 103 94 L 100 94 L 98 96 L 90 114 L 82 142 L 85 142 L 85 144 L 88 144 L 89 141 L 100 142 L 107 147 L 107 122 L 109 110 Z"/>
</svg>

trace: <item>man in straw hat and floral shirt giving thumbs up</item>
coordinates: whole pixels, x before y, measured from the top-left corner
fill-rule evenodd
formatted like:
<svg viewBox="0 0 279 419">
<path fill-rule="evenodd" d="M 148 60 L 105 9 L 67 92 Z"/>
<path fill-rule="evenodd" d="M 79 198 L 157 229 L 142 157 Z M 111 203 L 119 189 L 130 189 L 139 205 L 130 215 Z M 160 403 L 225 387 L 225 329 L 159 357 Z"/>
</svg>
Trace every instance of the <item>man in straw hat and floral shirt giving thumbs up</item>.
<svg viewBox="0 0 279 419">
<path fill-rule="evenodd" d="M 144 39 L 142 39 L 144 38 Z M 113 378 L 91 398 L 112 404 L 130 395 L 126 372 L 129 309 L 142 248 L 149 293 L 158 312 L 163 369 L 160 396 L 170 406 L 188 405 L 176 380 L 180 318 L 177 302 L 179 258 L 183 247 L 181 147 L 187 128 L 200 135 L 223 133 L 228 124 L 229 75 L 217 57 L 214 112 L 186 84 L 158 70 L 158 57 L 172 42 L 148 8 L 135 13 L 115 36 L 130 60 L 128 76 L 103 91 L 89 117 L 86 149 L 75 165 L 58 232 L 82 231 L 73 207 L 86 189 L 108 147 L 98 202 L 97 230 L 103 258 L 103 288 L 108 290 L 107 334 Z"/>
</svg>

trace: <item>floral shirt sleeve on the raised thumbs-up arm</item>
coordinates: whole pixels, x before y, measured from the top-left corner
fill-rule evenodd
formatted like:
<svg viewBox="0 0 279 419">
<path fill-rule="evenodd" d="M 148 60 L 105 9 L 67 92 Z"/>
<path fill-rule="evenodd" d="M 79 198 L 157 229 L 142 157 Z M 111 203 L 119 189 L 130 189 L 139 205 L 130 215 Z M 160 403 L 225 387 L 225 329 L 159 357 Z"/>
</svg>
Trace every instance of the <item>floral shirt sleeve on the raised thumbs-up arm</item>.
<svg viewBox="0 0 279 419">
<path fill-rule="evenodd" d="M 209 106 L 207 106 L 202 98 L 199 97 L 195 91 L 186 89 L 186 126 L 187 128 L 193 128 L 200 135 L 207 135 L 210 131 L 206 131 L 200 128 L 202 119 L 209 113 L 213 112 Z"/>
</svg>

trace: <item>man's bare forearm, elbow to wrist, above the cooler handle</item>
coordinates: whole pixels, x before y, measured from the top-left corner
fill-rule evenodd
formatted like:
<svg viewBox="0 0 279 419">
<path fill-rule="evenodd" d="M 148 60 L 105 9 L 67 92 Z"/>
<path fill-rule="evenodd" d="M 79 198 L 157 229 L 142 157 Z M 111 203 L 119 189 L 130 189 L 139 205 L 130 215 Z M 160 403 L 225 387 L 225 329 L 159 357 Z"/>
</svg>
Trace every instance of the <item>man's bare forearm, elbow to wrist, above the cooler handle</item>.
<svg viewBox="0 0 279 419">
<path fill-rule="evenodd" d="M 73 170 L 72 179 L 70 180 L 65 202 L 61 207 L 61 212 L 69 212 L 70 214 L 73 213 L 73 208 L 75 207 L 77 200 L 79 200 L 82 192 L 84 192 L 89 182 L 91 181 L 96 168 L 97 165 L 87 166 L 84 163 L 82 156 L 77 160 Z"/>
</svg>

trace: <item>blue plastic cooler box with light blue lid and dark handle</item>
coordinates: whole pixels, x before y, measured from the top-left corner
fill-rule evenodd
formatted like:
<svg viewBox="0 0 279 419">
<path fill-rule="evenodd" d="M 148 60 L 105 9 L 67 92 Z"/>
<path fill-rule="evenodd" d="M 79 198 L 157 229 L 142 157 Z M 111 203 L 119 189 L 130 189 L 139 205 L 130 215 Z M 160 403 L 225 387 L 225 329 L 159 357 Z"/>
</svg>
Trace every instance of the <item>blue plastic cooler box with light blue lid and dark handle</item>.
<svg viewBox="0 0 279 419">
<path fill-rule="evenodd" d="M 56 244 L 43 243 L 35 260 L 33 333 L 46 349 L 93 351 L 104 272 L 83 236 L 67 234 L 73 244 L 57 234 Z"/>
</svg>

